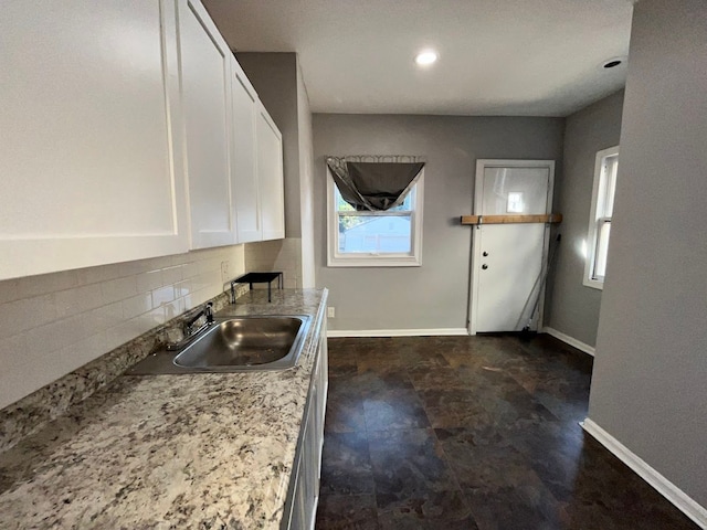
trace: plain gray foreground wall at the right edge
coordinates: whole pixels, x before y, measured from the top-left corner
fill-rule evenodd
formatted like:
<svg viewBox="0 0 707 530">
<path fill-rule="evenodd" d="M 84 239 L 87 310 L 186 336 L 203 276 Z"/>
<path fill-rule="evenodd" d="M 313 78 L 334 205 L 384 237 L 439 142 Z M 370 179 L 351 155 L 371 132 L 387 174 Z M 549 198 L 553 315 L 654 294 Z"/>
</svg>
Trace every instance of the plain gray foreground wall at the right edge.
<svg viewBox="0 0 707 530">
<path fill-rule="evenodd" d="M 589 417 L 707 507 L 707 3 L 636 3 Z"/>
</svg>

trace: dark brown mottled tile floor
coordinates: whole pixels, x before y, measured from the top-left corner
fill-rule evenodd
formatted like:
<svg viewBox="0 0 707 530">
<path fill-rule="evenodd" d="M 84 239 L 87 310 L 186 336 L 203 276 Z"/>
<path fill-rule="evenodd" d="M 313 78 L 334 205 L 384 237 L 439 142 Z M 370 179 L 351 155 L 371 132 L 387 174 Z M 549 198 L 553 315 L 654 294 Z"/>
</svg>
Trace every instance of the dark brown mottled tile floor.
<svg viewBox="0 0 707 530">
<path fill-rule="evenodd" d="M 329 339 L 317 530 L 696 529 L 585 435 L 548 336 Z"/>
</svg>

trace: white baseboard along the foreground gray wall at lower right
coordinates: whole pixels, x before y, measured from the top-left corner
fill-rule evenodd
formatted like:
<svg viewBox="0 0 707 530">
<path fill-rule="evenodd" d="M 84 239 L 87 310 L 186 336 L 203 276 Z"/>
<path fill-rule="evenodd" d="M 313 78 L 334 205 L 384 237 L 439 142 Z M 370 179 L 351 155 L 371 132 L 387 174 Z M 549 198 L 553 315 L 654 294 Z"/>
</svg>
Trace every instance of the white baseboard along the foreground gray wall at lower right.
<svg viewBox="0 0 707 530">
<path fill-rule="evenodd" d="M 707 529 L 707 509 L 698 505 L 680 488 L 653 469 L 640 456 L 634 454 L 625 445 L 600 427 L 589 417 L 580 423 L 582 428 L 613 453 L 621 462 L 633 469 L 641 478 L 648 483 L 655 490 L 673 502 L 677 509 L 695 521 L 700 528 Z"/>
</svg>

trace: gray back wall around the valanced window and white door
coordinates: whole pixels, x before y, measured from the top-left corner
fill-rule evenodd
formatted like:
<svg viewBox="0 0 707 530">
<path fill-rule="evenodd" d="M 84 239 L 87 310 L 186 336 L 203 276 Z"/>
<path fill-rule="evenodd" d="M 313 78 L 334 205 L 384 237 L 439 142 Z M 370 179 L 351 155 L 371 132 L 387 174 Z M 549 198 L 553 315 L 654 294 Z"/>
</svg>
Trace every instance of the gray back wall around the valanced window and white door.
<svg viewBox="0 0 707 530">
<path fill-rule="evenodd" d="M 315 258 L 338 330 L 466 328 L 478 158 L 561 159 L 562 118 L 314 115 Z M 421 267 L 326 266 L 327 155 L 425 156 Z M 558 163 L 559 166 L 559 163 Z"/>
</svg>

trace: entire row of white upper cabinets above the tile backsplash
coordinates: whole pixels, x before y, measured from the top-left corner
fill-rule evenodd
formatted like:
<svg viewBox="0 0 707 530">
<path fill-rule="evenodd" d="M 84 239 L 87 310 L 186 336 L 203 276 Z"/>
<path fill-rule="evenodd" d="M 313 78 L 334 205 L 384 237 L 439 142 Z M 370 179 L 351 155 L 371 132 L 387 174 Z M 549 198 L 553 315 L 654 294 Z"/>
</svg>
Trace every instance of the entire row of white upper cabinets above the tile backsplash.
<svg viewBox="0 0 707 530">
<path fill-rule="evenodd" d="M 284 237 L 282 137 L 198 0 L 7 0 L 0 35 L 0 280 Z"/>
</svg>

